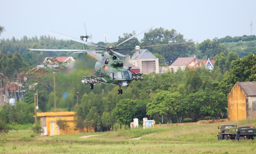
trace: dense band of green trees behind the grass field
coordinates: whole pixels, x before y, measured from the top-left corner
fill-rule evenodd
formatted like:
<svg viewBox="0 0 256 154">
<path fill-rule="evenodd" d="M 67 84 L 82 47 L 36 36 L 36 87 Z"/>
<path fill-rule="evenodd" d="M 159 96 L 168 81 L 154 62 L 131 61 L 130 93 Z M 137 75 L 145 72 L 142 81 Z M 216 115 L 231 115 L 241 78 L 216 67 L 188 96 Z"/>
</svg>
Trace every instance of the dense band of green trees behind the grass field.
<svg viewBox="0 0 256 154">
<path fill-rule="evenodd" d="M 98 42 L 98 44 L 114 46 L 132 35 L 124 34 L 123 37 L 118 38 L 118 42 Z M 156 28 L 145 33 L 141 41 L 133 38 L 120 47 L 187 41 L 183 37 L 176 30 Z M 0 71 L 8 79 L 16 81 L 18 73 L 31 70 L 33 65 L 38 64 L 46 56 L 61 55 L 61 53 L 53 52 L 31 52 L 27 48 L 80 49 L 80 44 L 46 36 L 39 39 L 24 36 L 22 40 L 1 39 L 0 47 Z M 113 130 L 117 127 L 116 124 L 120 127 L 127 126 L 133 118 L 147 117 L 156 120 L 156 123 L 161 123 L 162 115 L 164 123 L 225 118 L 227 116 L 227 94 L 234 83 L 256 80 L 256 59 L 252 54 L 255 52 L 248 53 L 249 55 L 240 59 L 237 52 L 228 52 L 226 46 L 217 38 L 207 39 L 198 44 L 191 42 L 148 49 L 162 57 L 162 65 L 168 65 L 178 57 L 194 57 L 194 54 L 198 55 L 198 58 L 214 58 L 214 70 L 186 68 L 184 71 L 178 70 L 175 73 L 169 71 L 146 74 L 143 76 L 144 81 L 133 81 L 129 87 L 123 89 L 123 95 L 116 95 L 118 87 L 99 84 L 91 90 L 80 83 L 81 76 L 94 72 L 94 61 L 87 60 L 84 55 L 78 55 L 75 69 L 71 73 L 66 73 L 65 70 L 55 73 L 57 110 L 76 111 L 76 127 L 92 126 L 95 131 Z M 134 53 L 132 49 L 124 51 L 124 54 L 132 53 Z M 26 89 L 26 93 L 22 101 L 14 107 L 0 108 L 0 119 L 3 122 L 8 124 L 33 123 L 36 90 L 38 91 L 39 112 L 56 111 L 53 92 L 54 73 L 50 68 L 44 69 L 48 73 L 23 83 L 22 86 Z M 3 84 L 12 81 L 1 80 Z M 35 82 L 38 84 L 31 88 L 30 85 Z M 29 118 L 22 119 L 26 116 Z"/>
</svg>

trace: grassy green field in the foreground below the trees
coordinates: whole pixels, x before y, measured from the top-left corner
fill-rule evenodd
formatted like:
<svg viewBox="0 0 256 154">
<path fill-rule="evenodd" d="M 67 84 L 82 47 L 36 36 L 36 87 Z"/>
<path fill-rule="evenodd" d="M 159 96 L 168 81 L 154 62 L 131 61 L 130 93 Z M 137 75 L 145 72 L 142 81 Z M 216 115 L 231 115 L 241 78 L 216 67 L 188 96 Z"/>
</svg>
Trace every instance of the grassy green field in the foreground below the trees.
<svg viewBox="0 0 256 154">
<path fill-rule="evenodd" d="M 256 119 L 229 121 L 256 127 Z M 110 132 L 38 136 L 32 130 L 10 130 L 1 138 L 0 153 L 80 154 L 255 154 L 256 140 L 217 140 L 224 123 L 118 130 Z M 90 136 L 88 138 L 80 138 Z M 140 137 L 140 139 L 138 139 Z M 137 138 L 137 139 L 134 139 Z"/>
</svg>

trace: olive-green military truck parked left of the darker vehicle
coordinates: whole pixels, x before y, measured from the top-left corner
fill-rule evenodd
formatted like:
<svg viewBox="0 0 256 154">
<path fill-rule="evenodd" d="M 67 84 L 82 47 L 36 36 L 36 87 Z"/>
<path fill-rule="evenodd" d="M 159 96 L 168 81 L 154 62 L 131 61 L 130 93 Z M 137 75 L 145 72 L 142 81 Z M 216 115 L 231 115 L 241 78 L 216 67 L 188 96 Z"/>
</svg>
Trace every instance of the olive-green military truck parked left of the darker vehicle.
<svg viewBox="0 0 256 154">
<path fill-rule="evenodd" d="M 222 124 L 218 136 L 218 140 L 234 140 L 236 138 L 237 127 L 234 124 Z"/>
</svg>

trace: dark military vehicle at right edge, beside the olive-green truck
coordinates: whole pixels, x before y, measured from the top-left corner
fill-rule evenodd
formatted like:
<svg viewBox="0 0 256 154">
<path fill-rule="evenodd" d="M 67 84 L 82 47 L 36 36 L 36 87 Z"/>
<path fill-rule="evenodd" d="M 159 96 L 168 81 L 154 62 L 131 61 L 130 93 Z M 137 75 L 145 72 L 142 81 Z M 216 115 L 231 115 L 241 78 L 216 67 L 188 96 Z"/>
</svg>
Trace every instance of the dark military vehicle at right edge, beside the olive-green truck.
<svg viewBox="0 0 256 154">
<path fill-rule="evenodd" d="M 238 127 L 235 139 L 244 140 L 248 138 L 253 140 L 255 137 L 256 137 L 256 128 L 252 128 L 250 126 L 241 126 L 241 127 Z"/>
</svg>

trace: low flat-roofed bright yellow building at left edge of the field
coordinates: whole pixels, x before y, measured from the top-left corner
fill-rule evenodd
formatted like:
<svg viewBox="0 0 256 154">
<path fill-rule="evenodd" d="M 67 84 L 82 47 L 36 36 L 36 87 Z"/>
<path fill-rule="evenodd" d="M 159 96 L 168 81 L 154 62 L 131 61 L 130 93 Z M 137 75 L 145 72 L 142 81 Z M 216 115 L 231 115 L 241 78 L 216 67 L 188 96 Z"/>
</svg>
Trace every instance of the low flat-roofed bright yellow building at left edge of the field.
<svg viewBox="0 0 256 154">
<path fill-rule="evenodd" d="M 74 115 L 76 112 L 44 112 L 37 113 L 36 116 L 40 116 L 40 122 L 42 127 L 42 135 L 60 135 L 60 134 L 73 134 L 79 133 L 81 130 L 74 130 L 76 122 Z M 63 120 L 68 124 L 68 130 L 61 130 L 57 124 L 58 120 Z M 94 132 L 94 129 L 84 129 L 82 132 Z"/>
</svg>

